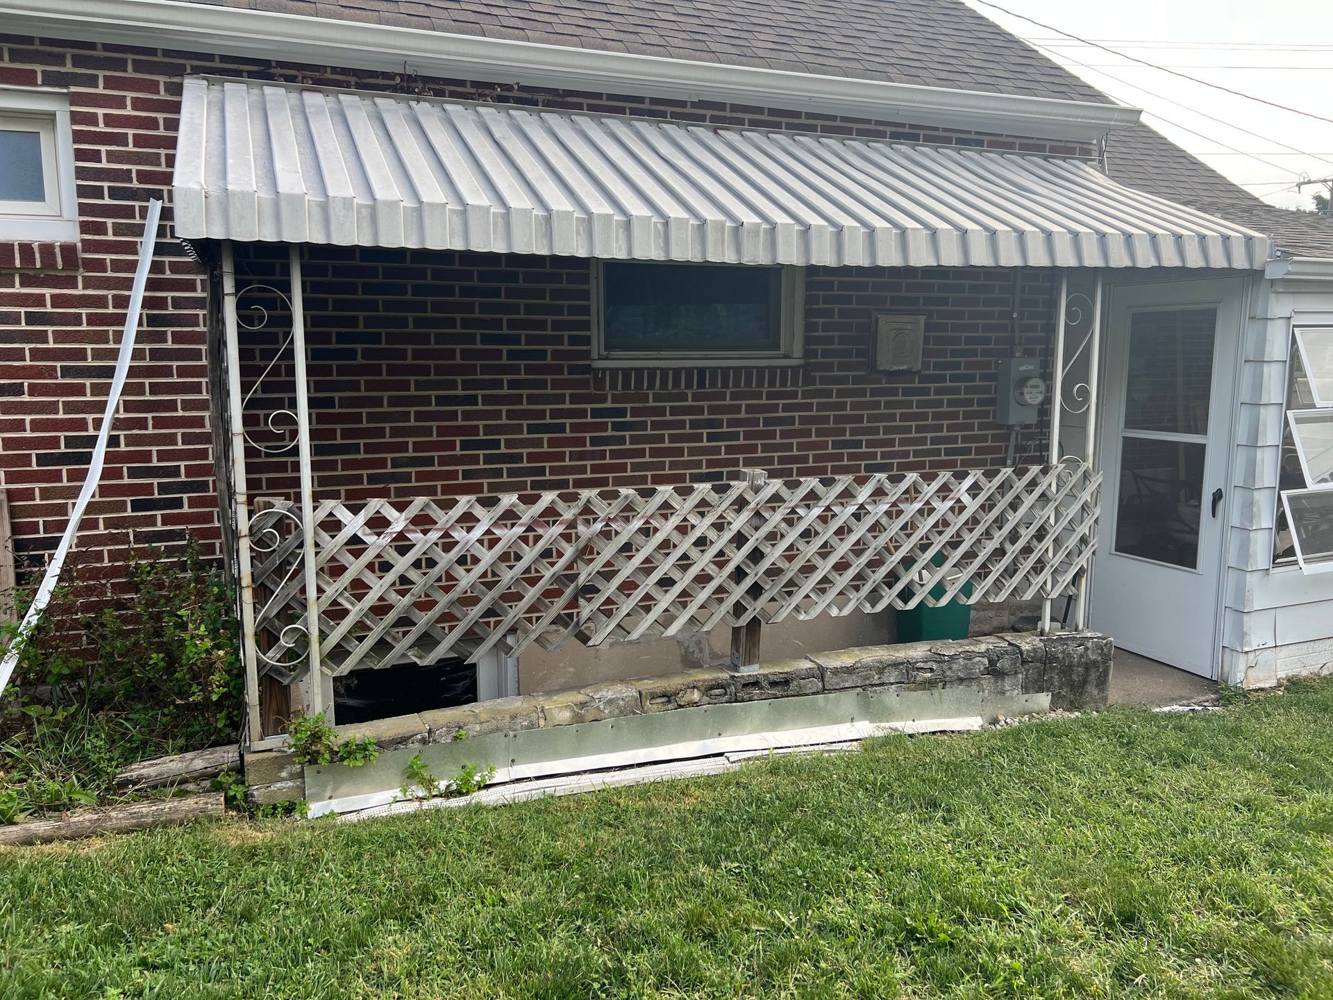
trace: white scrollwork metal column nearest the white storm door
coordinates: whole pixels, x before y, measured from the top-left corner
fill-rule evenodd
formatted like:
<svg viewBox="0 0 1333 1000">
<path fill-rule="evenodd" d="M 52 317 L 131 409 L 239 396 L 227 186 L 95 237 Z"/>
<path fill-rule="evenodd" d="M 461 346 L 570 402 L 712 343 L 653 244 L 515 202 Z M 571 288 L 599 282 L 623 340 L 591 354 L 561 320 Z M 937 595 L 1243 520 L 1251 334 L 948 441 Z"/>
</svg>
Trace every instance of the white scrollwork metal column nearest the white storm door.
<svg viewBox="0 0 1333 1000">
<path fill-rule="evenodd" d="M 1056 319 L 1056 357 L 1052 369 L 1054 387 L 1050 400 L 1050 449 L 1052 464 L 1074 461 L 1093 468 L 1097 459 L 1097 383 L 1101 361 L 1101 299 L 1102 277 L 1096 272 L 1093 277 L 1092 296 L 1082 292 L 1069 292 L 1069 271 L 1060 273 L 1060 303 Z M 1086 313 L 1085 313 L 1086 309 Z M 1065 339 L 1069 332 L 1077 329 L 1088 320 L 1088 332 L 1073 352 L 1065 351 Z M 1088 379 L 1066 387 L 1070 372 L 1078 363 L 1084 352 L 1088 352 Z M 1084 431 L 1082 455 L 1064 455 L 1060 441 L 1060 432 L 1064 423 L 1064 413 L 1086 413 L 1086 427 Z M 1050 631 L 1050 601 L 1045 597 L 1041 603 L 1041 631 Z M 1077 596 L 1074 605 L 1074 628 L 1086 627 L 1088 607 L 1088 573 L 1078 575 Z"/>
</svg>

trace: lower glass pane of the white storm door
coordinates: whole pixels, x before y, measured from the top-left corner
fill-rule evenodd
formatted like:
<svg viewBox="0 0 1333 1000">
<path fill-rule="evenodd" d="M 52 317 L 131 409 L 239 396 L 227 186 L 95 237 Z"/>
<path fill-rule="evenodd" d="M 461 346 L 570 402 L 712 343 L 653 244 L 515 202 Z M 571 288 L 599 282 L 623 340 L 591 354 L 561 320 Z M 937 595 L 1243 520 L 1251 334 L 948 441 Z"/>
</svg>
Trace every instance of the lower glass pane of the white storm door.
<svg viewBox="0 0 1333 1000">
<path fill-rule="evenodd" d="M 1205 447 L 1125 435 L 1120 453 L 1116 552 L 1198 565 L 1198 512 Z"/>
</svg>

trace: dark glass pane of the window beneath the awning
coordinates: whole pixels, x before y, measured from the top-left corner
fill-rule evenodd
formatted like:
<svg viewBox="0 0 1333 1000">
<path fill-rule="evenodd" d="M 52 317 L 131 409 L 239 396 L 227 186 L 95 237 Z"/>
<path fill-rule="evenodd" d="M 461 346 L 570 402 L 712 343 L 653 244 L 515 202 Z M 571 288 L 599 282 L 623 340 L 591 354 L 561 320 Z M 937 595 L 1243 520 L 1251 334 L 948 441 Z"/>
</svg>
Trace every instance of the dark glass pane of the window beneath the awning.
<svg viewBox="0 0 1333 1000">
<path fill-rule="evenodd" d="M 781 268 L 605 264 L 607 351 L 780 351 Z"/>
</svg>

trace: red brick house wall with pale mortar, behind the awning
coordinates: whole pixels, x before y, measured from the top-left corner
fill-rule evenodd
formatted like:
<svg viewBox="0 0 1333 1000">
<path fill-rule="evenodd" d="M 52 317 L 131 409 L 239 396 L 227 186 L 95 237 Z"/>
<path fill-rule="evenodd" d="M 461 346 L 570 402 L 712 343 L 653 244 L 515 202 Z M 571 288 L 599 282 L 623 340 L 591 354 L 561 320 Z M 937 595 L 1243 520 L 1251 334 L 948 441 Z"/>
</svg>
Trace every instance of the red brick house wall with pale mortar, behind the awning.
<svg viewBox="0 0 1333 1000">
<path fill-rule="evenodd" d="M 147 200 L 157 196 L 169 201 L 180 79 L 196 72 L 376 89 L 397 85 L 384 73 L 0 35 L 0 85 L 69 91 L 80 200 L 77 247 L 0 241 L 0 473 L 15 517 L 15 545 L 23 556 L 40 557 L 55 547 L 83 481 L 116 356 Z M 413 80 L 412 87 L 441 97 L 1092 155 L 1064 143 L 709 101 L 515 91 L 457 80 Z M 169 204 L 165 217 L 171 217 Z M 954 275 L 941 285 L 933 276 L 816 271 L 810 275 L 809 319 L 818 345 L 812 349 L 805 384 L 785 393 L 724 391 L 689 400 L 680 392 L 640 399 L 596 391 L 581 371 L 587 359 L 587 264 L 541 261 L 536 271 L 524 267 L 523 280 L 508 287 L 500 276 L 511 273 L 511 264 L 465 257 L 457 264 L 425 265 L 473 272 L 475 277 L 441 279 L 440 284 L 484 292 L 456 291 L 452 301 L 436 296 L 427 304 L 425 317 L 417 315 L 420 304 L 405 303 L 397 319 L 435 324 L 424 341 L 411 325 L 379 323 L 367 329 L 359 320 L 361 333 L 384 333 L 385 345 L 328 340 L 320 348 L 344 355 L 353 349 L 361 361 L 385 372 L 365 385 L 329 381 L 328 364 L 335 355 L 316 361 L 321 393 L 345 388 L 363 397 L 359 409 L 340 404 L 320 416 L 321 468 L 339 476 L 324 480 L 327 485 L 383 492 L 428 481 L 451 489 L 564 481 L 600 485 L 648 475 L 674 481 L 722 475 L 753 464 L 760 455 L 774 471 L 798 475 L 862 461 L 904 468 L 909 449 L 914 451 L 912 461 L 948 464 L 962 457 L 960 449 L 993 457 L 998 448 L 998 436 L 985 427 L 984 407 L 976 403 L 988 392 L 981 353 L 998 349 L 989 333 L 1008 316 L 1008 305 L 994 300 L 994 289 L 1004 284 L 1000 275 Z M 380 265 L 373 255 L 363 255 L 361 267 Z M 152 275 L 123 415 L 80 540 L 93 560 L 116 561 L 129 543 L 169 543 L 185 529 L 208 540 L 217 537 L 207 397 L 207 277 L 171 240 L 169 229 L 159 241 Z M 945 292 L 966 296 L 972 304 L 948 307 L 940 297 Z M 320 296 L 316 292 L 315 297 Z M 327 312 L 343 308 L 341 301 L 324 299 Z M 865 343 L 857 331 L 864 332 L 866 311 L 880 301 L 912 307 L 918 299 L 933 303 L 930 349 L 942 352 L 953 343 L 968 352 L 976 349 L 977 359 L 938 355 L 928 379 L 921 380 L 865 376 Z M 331 323 L 321 316 L 316 335 L 328 339 L 339 332 L 333 325 L 348 325 Z M 457 345 L 445 335 L 472 343 Z M 970 343 L 969 337 L 980 340 Z M 545 352 L 547 360 L 532 360 L 532 352 Z M 396 359 L 408 356 L 413 356 L 409 371 L 397 367 Z M 432 384 L 457 383 L 460 388 L 404 388 L 404 376 L 420 371 L 421 356 L 429 356 Z M 465 373 L 453 372 L 456 364 Z M 507 391 L 508 375 L 519 375 L 523 388 L 509 384 Z M 940 381 L 926 384 L 934 379 Z M 924 389 L 926 397 L 913 396 Z M 523 401 L 516 404 L 509 391 L 521 391 Z M 928 407 L 945 408 L 953 417 L 933 427 Z M 625 416 L 612 416 L 620 412 Z M 337 427 L 335 420 L 344 413 L 355 413 L 347 419 L 359 428 Z M 467 448 L 452 431 L 421 440 L 420 424 L 436 420 L 463 428 Z M 656 441 L 655 435 L 669 435 L 670 441 Z M 405 447 L 409 440 L 411 447 Z M 836 444 L 852 440 L 862 444 Z M 332 453 L 352 444 L 357 445 L 355 455 Z"/>
</svg>

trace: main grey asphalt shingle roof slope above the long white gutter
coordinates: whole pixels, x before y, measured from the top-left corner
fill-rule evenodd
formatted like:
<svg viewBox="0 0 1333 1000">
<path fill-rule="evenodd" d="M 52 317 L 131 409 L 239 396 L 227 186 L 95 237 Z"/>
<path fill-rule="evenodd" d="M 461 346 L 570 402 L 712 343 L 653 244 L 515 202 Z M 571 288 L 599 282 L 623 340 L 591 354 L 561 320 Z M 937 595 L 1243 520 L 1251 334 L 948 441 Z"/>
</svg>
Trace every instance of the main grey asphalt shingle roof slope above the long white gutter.
<svg viewBox="0 0 1333 1000">
<path fill-rule="evenodd" d="M 958 0 L 189 0 L 797 73 L 1106 101 Z"/>
</svg>

